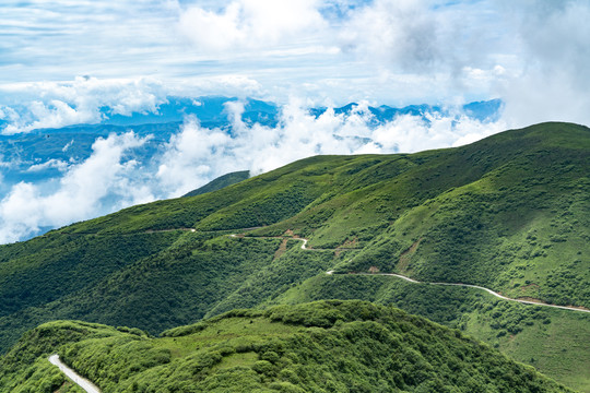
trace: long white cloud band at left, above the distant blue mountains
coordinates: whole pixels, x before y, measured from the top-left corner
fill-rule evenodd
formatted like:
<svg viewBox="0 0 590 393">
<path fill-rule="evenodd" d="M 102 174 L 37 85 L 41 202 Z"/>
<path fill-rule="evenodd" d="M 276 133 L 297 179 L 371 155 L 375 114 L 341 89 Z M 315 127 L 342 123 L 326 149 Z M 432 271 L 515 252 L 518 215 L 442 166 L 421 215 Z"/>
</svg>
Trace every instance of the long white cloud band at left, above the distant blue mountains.
<svg viewBox="0 0 590 393">
<path fill-rule="evenodd" d="M 0 96 L 14 104 L 0 105 L 0 127 L 3 134 L 14 134 L 35 129 L 92 124 L 114 115 L 157 114 L 169 96 L 225 94 L 247 97 L 260 95 L 261 90 L 256 80 L 238 74 L 193 78 L 168 84 L 153 78 L 92 76 L 78 76 L 68 82 L 4 84 L 0 85 Z"/>
</svg>

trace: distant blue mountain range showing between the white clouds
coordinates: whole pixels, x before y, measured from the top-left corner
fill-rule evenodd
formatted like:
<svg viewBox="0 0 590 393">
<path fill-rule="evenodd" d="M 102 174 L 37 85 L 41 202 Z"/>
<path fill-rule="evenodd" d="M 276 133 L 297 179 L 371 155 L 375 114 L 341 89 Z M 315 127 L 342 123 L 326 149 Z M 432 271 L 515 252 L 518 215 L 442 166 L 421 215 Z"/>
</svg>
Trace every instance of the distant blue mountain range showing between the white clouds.
<svg viewBox="0 0 590 393">
<path fill-rule="evenodd" d="M 59 175 L 58 162 L 76 163 L 86 159 L 92 153 L 92 144 L 97 138 L 106 138 L 111 133 L 120 134 L 130 129 L 138 135 L 153 135 L 146 146 L 137 152 L 143 162 L 149 160 L 165 143 L 178 132 L 179 126 L 187 116 L 194 116 L 204 128 L 228 128 L 231 120 L 226 104 L 237 98 L 201 97 L 198 99 L 169 97 L 167 104 L 158 107 L 157 114 L 138 114 L 131 116 L 113 115 L 110 108 L 102 108 L 105 117 L 98 124 L 78 124 L 60 129 L 39 129 L 13 135 L 0 134 L 0 172 L 3 182 L 0 198 L 7 188 L 19 181 L 45 181 Z M 337 115 L 350 115 L 357 104 L 333 108 Z M 457 109 L 457 108 L 456 108 Z M 494 121 L 500 115 L 502 100 L 493 99 L 463 105 L 461 114 L 480 120 Z M 273 103 L 256 99 L 245 102 L 243 121 L 274 127 L 279 121 L 280 107 Z M 312 116 L 321 116 L 327 108 L 310 108 Z M 411 115 L 426 118 L 430 115 L 449 116 L 450 109 L 430 105 L 411 105 L 403 108 L 389 106 L 368 107 L 373 115 L 371 124 L 376 126 L 396 119 L 398 116 Z M 227 129 L 231 132 L 231 129 Z M 51 164 L 52 163 L 52 164 Z"/>
</svg>

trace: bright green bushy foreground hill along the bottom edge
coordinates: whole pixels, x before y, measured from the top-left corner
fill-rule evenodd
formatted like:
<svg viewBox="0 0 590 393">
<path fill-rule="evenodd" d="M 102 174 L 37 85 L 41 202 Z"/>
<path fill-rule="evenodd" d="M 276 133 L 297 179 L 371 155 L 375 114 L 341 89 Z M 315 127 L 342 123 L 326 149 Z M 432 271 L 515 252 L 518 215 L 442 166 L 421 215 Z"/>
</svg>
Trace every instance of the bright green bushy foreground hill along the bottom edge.
<svg viewBox="0 0 590 393">
<path fill-rule="evenodd" d="M 152 338 L 51 322 L 1 360 L 0 390 L 55 392 L 60 357 L 105 392 L 566 392 L 460 332 L 361 301 L 236 310 Z"/>
</svg>

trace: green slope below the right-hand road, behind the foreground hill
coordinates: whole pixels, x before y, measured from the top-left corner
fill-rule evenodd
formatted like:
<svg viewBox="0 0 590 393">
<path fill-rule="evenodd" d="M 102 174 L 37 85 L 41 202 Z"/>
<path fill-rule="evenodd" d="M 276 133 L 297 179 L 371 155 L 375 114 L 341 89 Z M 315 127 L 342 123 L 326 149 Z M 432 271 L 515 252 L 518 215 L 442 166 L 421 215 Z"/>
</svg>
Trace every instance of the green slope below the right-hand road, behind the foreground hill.
<svg viewBox="0 0 590 393">
<path fill-rule="evenodd" d="M 590 314 L 500 300 L 465 287 L 379 275 L 318 275 L 273 300 L 366 299 L 458 329 L 581 392 L 590 392 Z"/>
</svg>

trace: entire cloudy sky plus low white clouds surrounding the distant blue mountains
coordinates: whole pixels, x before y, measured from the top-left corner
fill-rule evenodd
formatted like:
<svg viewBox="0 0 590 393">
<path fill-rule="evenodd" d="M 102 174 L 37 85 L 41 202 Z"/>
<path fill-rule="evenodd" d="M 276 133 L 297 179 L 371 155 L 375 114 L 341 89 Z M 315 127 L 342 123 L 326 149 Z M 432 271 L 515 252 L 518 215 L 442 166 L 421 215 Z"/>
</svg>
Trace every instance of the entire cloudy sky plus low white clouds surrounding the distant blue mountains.
<svg viewBox="0 0 590 393">
<path fill-rule="evenodd" d="M 590 124 L 587 0 L 2 0 L 0 15 L 4 134 L 96 123 L 103 107 L 157 112 L 169 96 L 281 106 L 266 127 L 244 123 L 243 103 L 231 103 L 231 134 L 186 119 L 149 159 L 129 158 L 149 141 L 130 128 L 96 139 L 87 157 L 24 163 L 58 168 L 46 182 L 8 183 L 14 163 L 0 152 L 0 242 L 233 170 L 457 146 L 547 120 Z M 491 98 L 504 103 L 494 121 L 457 110 Z M 349 115 L 307 110 L 351 102 L 361 105 Z M 378 127 L 365 110 L 422 103 L 450 109 Z"/>
</svg>

